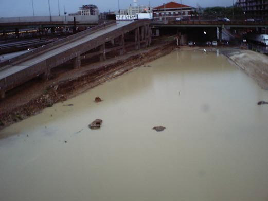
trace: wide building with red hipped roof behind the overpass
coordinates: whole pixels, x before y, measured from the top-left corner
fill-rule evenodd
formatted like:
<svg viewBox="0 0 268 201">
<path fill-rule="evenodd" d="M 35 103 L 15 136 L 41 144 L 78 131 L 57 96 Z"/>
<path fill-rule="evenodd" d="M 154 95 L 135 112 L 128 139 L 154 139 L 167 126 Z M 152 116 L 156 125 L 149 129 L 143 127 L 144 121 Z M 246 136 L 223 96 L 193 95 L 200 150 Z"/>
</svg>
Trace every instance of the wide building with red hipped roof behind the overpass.
<svg viewBox="0 0 268 201">
<path fill-rule="evenodd" d="M 153 8 L 153 18 L 155 20 L 175 19 L 177 17 L 190 17 L 194 8 L 191 6 L 169 2 Z"/>
</svg>

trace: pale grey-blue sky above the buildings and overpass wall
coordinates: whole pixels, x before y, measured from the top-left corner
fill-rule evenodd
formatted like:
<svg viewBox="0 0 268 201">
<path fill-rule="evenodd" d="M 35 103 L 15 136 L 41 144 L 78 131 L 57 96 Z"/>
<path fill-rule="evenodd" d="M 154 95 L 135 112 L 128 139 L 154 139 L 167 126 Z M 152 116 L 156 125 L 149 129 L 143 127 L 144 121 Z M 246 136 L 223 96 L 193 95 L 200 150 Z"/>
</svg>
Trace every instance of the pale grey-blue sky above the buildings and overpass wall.
<svg viewBox="0 0 268 201">
<path fill-rule="evenodd" d="M 234 0 L 235 1 L 235 0 Z M 119 0 L 120 8 L 127 8 L 133 3 L 132 0 Z M 159 6 L 165 0 L 151 0 L 151 6 Z M 176 1 L 180 3 L 181 1 Z M 149 0 L 138 0 L 140 5 L 148 5 Z M 197 3 L 202 7 L 207 6 L 230 6 L 233 0 L 182 0 L 183 4 L 196 7 Z M 33 0 L 35 15 L 49 15 L 48 0 Z M 100 11 L 118 10 L 118 0 L 60 0 L 60 11 L 63 15 L 63 5 L 67 13 L 77 12 L 83 4 L 96 4 Z M 50 0 L 51 14 L 58 15 L 58 1 Z M 31 0 L 0 0 L 0 17 L 33 16 Z"/>
</svg>

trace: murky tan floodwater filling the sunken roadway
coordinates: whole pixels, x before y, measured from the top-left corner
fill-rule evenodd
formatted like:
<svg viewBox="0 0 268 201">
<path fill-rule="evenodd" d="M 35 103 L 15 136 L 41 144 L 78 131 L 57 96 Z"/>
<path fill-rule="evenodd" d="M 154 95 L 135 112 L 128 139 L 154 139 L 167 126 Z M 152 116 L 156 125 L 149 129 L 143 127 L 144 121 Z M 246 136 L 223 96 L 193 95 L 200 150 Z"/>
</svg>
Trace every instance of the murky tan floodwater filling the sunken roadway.
<svg viewBox="0 0 268 201">
<path fill-rule="evenodd" d="M 268 92 L 216 52 L 146 66 L 0 131 L 0 200 L 267 201 Z"/>
</svg>

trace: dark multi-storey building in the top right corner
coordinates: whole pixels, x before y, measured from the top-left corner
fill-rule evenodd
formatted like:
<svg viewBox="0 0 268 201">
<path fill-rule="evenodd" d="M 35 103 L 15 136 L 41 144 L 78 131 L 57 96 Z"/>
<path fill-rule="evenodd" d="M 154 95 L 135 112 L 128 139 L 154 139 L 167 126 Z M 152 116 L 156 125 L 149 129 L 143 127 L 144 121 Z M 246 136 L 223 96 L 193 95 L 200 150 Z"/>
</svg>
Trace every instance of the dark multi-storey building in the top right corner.
<svg viewBox="0 0 268 201">
<path fill-rule="evenodd" d="M 238 0 L 246 17 L 268 19 L 268 0 Z"/>
</svg>

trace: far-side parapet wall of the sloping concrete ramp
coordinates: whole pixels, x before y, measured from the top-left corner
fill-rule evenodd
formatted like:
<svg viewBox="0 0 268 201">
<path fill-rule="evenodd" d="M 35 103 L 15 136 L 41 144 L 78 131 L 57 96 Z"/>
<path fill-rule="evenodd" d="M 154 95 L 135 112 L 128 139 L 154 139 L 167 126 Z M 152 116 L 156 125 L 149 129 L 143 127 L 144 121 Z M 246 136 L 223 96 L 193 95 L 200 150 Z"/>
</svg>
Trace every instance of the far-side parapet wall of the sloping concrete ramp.
<svg viewBox="0 0 268 201">
<path fill-rule="evenodd" d="M 14 62 L 20 61 L 20 60 L 30 59 L 33 56 L 35 56 L 36 54 L 38 54 L 38 53 L 41 53 L 41 52 L 46 51 L 46 50 L 48 50 L 50 48 L 53 48 L 53 47 L 57 47 L 59 45 L 64 45 L 65 43 L 72 42 L 74 40 L 78 40 L 78 39 L 82 38 L 84 35 L 94 33 L 96 31 L 98 31 L 99 29 L 102 29 L 104 27 L 113 25 L 115 23 L 116 23 L 116 21 L 114 21 L 114 20 L 109 21 L 109 22 L 104 22 L 103 24 L 97 25 L 97 26 L 95 26 L 93 28 L 87 29 L 85 31 L 81 31 L 81 32 L 76 33 L 74 35 L 70 35 L 67 38 L 59 39 L 58 41 L 53 42 L 53 43 L 49 43 L 47 45 L 44 45 L 43 47 L 39 47 L 39 48 L 30 50 L 30 51 L 28 51 L 28 52 L 26 52 L 24 54 L 21 54 L 20 56 L 13 57 L 13 58 L 11 58 L 9 60 L 0 62 L 0 68 L 3 67 L 3 66 L 6 66 L 6 65 L 12 64 Z"/>
</svg>

